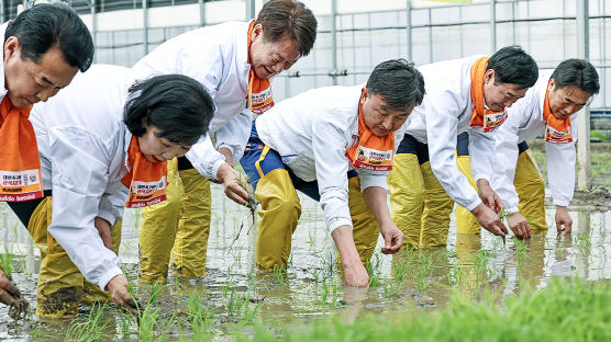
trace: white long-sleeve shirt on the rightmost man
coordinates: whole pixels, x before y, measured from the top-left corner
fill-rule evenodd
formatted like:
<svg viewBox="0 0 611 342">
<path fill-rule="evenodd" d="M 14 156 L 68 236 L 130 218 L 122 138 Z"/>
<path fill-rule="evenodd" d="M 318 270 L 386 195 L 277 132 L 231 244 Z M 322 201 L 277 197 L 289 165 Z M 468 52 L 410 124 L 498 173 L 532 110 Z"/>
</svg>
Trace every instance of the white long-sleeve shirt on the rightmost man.
<svg viewBox="0 0 611 342">
<path fill-rule="evenodd" d="M 547 92 L 551 70 L 540 72 L 536 84 L 524 98 L 508 109 L 509 117 L 497 133 L 496 164 L 492 189 L 501 197 L 506 210 L 518 212 L 518 193 L 513 185 L 518 164 L 518 144 L 533 140 L 545 133 L 543 104 Z M 573 142 L 545 142 L 547 181 L 555 205 L 567 206 L 575 190 L 575 141 L 577 140 L 577 114 L 570 116 Z"/>
</svg>

